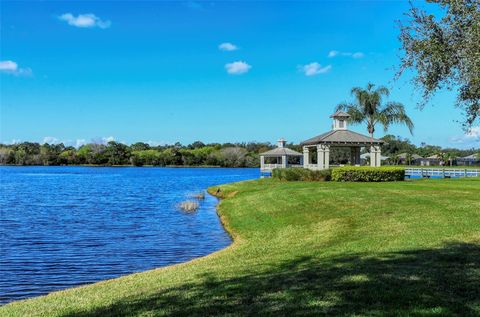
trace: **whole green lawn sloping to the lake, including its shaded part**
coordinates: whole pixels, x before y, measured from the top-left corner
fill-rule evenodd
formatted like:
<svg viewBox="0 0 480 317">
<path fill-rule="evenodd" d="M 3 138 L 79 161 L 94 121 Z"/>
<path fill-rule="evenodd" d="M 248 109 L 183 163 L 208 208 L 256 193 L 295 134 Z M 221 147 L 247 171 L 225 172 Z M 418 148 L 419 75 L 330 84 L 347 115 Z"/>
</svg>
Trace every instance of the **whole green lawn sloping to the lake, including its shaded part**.
<svg viewBox="0 0 480 317">
<path fill-rule="evenodd" d="M 230 247 L 0 315 L 480 316 L 478 178 L 263 179 L 220 194 Z"/>
</svg>

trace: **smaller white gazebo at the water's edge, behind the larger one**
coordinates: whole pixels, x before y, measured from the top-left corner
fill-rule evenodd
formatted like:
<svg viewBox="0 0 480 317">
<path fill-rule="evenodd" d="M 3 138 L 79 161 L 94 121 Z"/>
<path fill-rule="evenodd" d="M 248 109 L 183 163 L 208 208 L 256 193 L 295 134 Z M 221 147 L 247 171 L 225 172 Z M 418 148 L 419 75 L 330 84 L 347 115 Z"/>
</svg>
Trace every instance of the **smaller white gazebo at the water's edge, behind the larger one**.
<svg viewBox="0 0 480 317">
<path fill-rule="evenodd" d="M 285 141 L 283 138 L 277 141 L 277 148 L 260 153 L 260 170 L 269 172 L 275 168 L 287 168 L 287 167 L 302 167 L 303 162 L 302 153 L 298 153 L 292 149 L 286 148 Z M 298 164 L 289 164 L 290 157 L 299 158 L 300 165 Z"/>
</svg>

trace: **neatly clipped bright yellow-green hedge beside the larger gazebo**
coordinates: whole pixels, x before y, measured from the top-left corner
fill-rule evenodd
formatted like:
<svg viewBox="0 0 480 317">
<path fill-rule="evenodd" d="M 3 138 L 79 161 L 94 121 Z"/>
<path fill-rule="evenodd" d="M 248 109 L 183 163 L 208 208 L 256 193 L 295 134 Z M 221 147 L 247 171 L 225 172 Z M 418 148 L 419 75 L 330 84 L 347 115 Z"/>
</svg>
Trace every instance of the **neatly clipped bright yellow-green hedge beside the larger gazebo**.
<svg viewBox="0 0 480 317">
<path fill-rule="evenodd" d="M 401 167 L 344 166 L 332 171 L 332 180 L 337 182 L 393 182 L 405 180 Z"/>
</svg>

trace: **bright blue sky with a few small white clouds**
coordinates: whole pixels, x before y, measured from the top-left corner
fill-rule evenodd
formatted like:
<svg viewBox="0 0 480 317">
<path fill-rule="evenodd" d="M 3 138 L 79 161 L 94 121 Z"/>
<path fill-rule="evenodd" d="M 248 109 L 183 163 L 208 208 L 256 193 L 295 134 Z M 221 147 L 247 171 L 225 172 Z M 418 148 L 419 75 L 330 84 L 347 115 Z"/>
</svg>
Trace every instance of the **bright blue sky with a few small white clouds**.
<svg viewBox="0 0 480 317">
<path fill-rule="evenodd" d="M 1 2 L 0 141 L 299 142 L 353 86 L 391 88 L 416 128 L 468 148 L 455 96 L 393 81 L 406 1 Z M 224 45 L 222 45 L 224 44 Z M 365 133 L 365 127 L 353 130 Z M 384 134 L 378 128 L 376 136 Z"/>
</svg>

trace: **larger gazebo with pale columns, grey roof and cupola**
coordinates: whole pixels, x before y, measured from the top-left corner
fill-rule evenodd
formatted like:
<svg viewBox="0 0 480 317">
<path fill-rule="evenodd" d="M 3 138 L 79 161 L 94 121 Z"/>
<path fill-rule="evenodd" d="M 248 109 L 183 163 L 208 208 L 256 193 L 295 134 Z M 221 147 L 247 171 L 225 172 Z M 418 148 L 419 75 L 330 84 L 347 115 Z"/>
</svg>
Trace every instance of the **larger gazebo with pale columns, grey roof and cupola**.
<svg viewBox="0 0 480 317">
<path fill-rule="evenodd" d="M 360 165 L 360 148 L 370 148 L 370 166 L 381 165 L 380 146 L 385 143 L 347 129 L 347 121 L 350 115 L 343 111 L 337 111 L 330 116 L 333 118 L 333 130 L 320 134 L 316 137 L 303 141 L 303 167 L 309 169 L 327 169 L 330 167 L 330 149 L 332 147 L 349 147 L 350 164 Z M 313 164 L 310 157 L 310 149 L 317 149 L 317 163 Z"/>
</svg>

